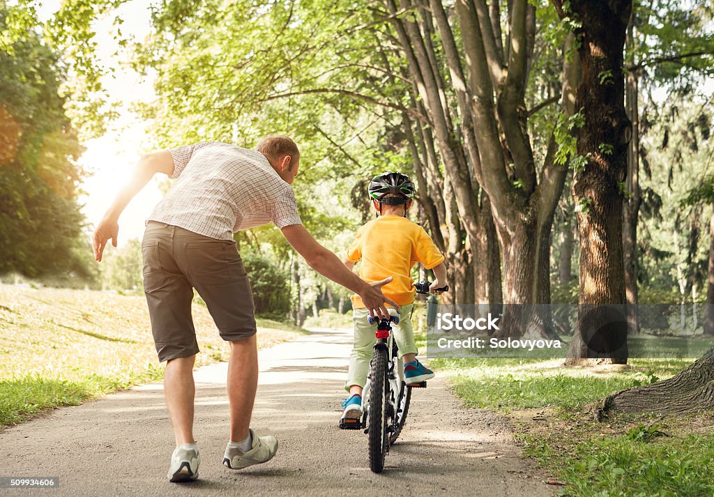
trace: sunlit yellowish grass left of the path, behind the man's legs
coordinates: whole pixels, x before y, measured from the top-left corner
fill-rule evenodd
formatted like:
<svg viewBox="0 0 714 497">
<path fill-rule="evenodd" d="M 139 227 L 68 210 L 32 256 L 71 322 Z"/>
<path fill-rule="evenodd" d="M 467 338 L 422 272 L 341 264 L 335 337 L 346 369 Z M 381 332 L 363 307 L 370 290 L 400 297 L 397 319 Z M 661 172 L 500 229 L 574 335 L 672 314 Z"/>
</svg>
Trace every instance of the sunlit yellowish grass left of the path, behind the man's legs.
<svg viewBox="0 0 714 497">
<path fill-rule="evenodd" d="M 143 296 L 0 284 L 0 426 L 163 378 Z M 230 353 L 205 307 L 193 305 L 197 366 Z M 301 328 L 258 319 L 258 348 Z"/>
</svg>

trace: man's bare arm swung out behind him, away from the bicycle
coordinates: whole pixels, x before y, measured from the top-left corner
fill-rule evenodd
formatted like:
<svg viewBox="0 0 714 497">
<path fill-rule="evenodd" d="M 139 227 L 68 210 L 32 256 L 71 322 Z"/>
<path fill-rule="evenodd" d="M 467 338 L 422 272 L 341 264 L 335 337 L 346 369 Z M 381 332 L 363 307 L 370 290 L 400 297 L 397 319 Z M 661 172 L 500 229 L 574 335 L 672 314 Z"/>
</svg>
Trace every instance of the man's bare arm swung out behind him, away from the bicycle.
<svg viewBox="0 0 714 497">
<path fill-rule="evenodd" d="M 106 246 L 106 242 L 109 239 L 111 239 L 111 244 L 116 247 L 116 237 L 119 235 L 119 216 L 126 205 L 129 204 L 129 201 L 134 199 L 134 196 L 149 183 L 154 174 L 164 173 L 171 175 L 173 172 L 174 159 L 171 158 L 171 152 L 156 152 L 147 154 L 139 159 L 139 163 L 136 164 L 136 168 L 131 174 L 129 183 L 116 195 L 111 207 L 104 214 L 104 219 L 99 222 L 94 231 L 92 248 L 94 249 L 94 258 L 97 261 L 101 261 L 104 246 Z"/>
</svg>

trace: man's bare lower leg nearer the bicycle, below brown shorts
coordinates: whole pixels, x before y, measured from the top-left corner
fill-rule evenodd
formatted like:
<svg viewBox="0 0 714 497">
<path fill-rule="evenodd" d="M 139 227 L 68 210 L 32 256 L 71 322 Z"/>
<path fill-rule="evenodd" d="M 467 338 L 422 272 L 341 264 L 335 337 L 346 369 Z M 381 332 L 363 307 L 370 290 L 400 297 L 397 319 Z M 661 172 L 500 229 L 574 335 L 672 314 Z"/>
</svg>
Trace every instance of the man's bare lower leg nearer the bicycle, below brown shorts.
<svg viewBox="0 0 714 497">
<path fill-rule="evenodd" d="M 231 404 L 231 440 L 248 438 L 253 402 L 258 388 L 258 349 L 256 336 L 231 341 L 228 361 L 228 402 Z"/>
</svg>

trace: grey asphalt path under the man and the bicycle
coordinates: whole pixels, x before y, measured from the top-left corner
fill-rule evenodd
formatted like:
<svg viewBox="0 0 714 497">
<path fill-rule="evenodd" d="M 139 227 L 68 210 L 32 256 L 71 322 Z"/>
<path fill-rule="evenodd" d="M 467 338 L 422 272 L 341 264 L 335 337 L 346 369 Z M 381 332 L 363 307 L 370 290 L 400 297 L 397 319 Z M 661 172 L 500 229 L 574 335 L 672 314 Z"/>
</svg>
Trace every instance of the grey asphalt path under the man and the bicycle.
<svg viewBox="0 0 714 497">
<path fill-rule="evenodd" d="M 138 386 L 0 432 L 0 476 L 57 476 L 0 496 L 553 496 L 521 458 L 508 425 L 466 409 L 443 379 L 413 391 L 406 426 L 381 474 L 367 436 L 338 428 L 349 330 L 318 330 L 260 352 L 253 429 L 278 438 L 272 461 L 231 471 L 226 363 L 195 372 L 200 479 L 169 483 L 174 448 L 161 383 Z"/>
</svg>

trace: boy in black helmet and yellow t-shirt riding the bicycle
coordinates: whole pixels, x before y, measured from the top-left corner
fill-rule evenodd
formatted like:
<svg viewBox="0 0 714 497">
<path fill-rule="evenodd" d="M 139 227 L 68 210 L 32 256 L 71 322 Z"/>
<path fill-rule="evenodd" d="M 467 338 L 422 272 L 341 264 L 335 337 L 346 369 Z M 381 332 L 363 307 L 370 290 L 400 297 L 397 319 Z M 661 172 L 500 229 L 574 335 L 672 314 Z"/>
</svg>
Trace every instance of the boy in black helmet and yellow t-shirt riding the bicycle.
<svg viewBox="0 0 714 497">
<path fill-rule="evenodd" d="M 366 281 L 379 281 L 392 276 L 391 283 L 383 286 L 385 296 L 399 307 L 399 323 L 392 323 L 392 331 L 404 363 L 404 376 L 408 385 L 421 383 L 434 377 L 433 371 L 416 360 L 417 348 L 411 327 L 414 307 L 414 288 L 411 267 L 416 262 L 433 269 L 436 281 L 431 283 L 431 293 L 441 293 L 435 288 L 446 286 L 444 256 L 421 226 L 407 218 L 414 196 L 414 184 L 408 176 L 389 172 L 375 176 L 369 184 L 369 196 L 377 219 L 369 221 L 357 231 L 357 237 L 347 251 L 345 266 L 352 268 L 362 260 L 359 276 Z M 350 356 L 345 390 L 350 397 L 343 403 L 342 418 L 362 416 L 362 390 L 367 381 L 369 364 L 374 353 L 376 324 L 368 321 L 369 313 L 357 295 L 351 297 L 354 308 L 354 343 Z"/>
</svg>

